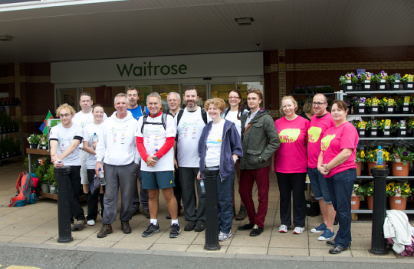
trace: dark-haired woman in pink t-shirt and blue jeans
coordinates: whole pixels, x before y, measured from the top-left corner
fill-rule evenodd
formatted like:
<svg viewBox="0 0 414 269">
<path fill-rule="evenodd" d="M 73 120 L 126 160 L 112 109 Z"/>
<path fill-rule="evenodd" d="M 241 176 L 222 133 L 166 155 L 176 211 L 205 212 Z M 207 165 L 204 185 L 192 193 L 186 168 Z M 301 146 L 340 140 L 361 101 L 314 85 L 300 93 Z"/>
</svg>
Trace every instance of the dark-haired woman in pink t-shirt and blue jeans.
<svg viewBox="0 0 414 269">
<path fill-rule="evenodd" d="M 335 100 L 332 103 L 335 127 L 325 131 L 318 159 L 318 170 L 326 178 L 339 221 L 335 240 L 326 242 L 328 246 L 333 246 L 330 254 L 340 254 L 351 245 L 351 194 L 357 178 L 355 153 L 359 137 L 355 127 L 346 119 L 347 111 L 344 101 Z"/>
</svg>

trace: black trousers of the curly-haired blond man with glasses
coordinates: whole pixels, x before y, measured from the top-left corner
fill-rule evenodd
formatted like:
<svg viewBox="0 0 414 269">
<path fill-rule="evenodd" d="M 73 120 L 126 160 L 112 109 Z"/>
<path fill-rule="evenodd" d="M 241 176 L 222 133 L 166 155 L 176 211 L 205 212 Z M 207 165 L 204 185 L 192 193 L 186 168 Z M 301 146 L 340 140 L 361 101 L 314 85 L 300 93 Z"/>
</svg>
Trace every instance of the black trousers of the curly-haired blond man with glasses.
<svg viewBox="0 0 414 269">
<path fill-rule="evenodd" d="M 85 219 L 83 208 L 79 204 L 80 194 L 80 168 L 81 166 L 70 166 L 69 171 L 69 207 L 70 207 L 70 220 L 72 223 L 74 219 L 78 221 Z"/>
</svg>

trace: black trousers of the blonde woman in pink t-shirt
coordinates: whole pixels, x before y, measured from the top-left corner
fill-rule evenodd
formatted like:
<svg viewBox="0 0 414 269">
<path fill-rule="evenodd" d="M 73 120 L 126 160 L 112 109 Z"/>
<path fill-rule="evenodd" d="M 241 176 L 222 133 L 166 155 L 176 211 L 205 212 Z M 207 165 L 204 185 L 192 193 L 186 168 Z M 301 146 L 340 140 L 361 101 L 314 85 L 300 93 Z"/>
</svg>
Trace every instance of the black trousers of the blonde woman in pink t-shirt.
<svg viewBox="0 0 414 269">
<path fill-rule="evenodd" d="M 292 224 L 292 193 L 293 193 L 293 225 L 305 227 L 306 199 L 305 180 L 306 173 L 279 173 L 276 172 L 280 192 L 280 220 L 282 225 Z"/>
</svg>

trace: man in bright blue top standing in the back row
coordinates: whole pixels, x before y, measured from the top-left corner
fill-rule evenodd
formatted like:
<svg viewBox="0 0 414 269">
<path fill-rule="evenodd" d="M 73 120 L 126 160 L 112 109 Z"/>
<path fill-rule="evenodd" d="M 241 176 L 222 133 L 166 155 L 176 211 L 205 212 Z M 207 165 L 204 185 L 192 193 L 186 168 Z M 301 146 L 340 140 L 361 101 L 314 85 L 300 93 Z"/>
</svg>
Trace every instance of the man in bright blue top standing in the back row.
<svg viewBox="0 0 414 269">
<path fill-rule="evenodd" d="M 148 115 L 148 108 L 138 105 L 138 90 L 136 88 L 128 88 L 127 91 L 128 96 L 128 111 L 132 113 L 132 117 L 135 120 L 139 121 L 142 116 Z M 138 180 L 141 184 L 141 191 L 138 193 Z M 144 215 L 147 219 L 150 218 L 150 211 L 148 210 L 148 191 L 142 187 L 142 175 L 141 175 L 141 166 L 137 167 L 137 182 L 136 186 L 134 186 L 134 197 L 132 198 L 132 210 L 131 216 L 135 216 L 140 214 L 140 196 L 141 196 L 141 204 L 142 210 L 144 211 Z"/>
</svg>

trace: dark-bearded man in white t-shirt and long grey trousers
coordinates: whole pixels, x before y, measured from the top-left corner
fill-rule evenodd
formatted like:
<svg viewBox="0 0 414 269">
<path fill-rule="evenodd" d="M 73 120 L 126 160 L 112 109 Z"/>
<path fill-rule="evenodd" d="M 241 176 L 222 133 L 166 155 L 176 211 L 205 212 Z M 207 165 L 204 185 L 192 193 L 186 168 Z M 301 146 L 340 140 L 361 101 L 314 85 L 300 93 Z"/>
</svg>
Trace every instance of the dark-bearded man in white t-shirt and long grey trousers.
<svg viewBox="0 0 414 269">
<path fill-rule="evenodd" d="M 207 113 L 198 105 L 199 92 L 194 86 L 187 87 L 184 91 L 186 108 L 181 110 L 175 119 L 177 136 L 175 147 L 177 149 L 177 163 L 179 169 L 180 183 L 184 213 L 189 221 L 184 228 L 185 231 L 202 232 L 206 228 L 206 194 L 202 193 L 201 180 L 196 180 L 199 172 L 199 140 L 203 128 L 211 119 Z M 196 190 L 194 184 L 197 182 L 197 194 L 199 204 L 196 213 Z"/>
</svg>

